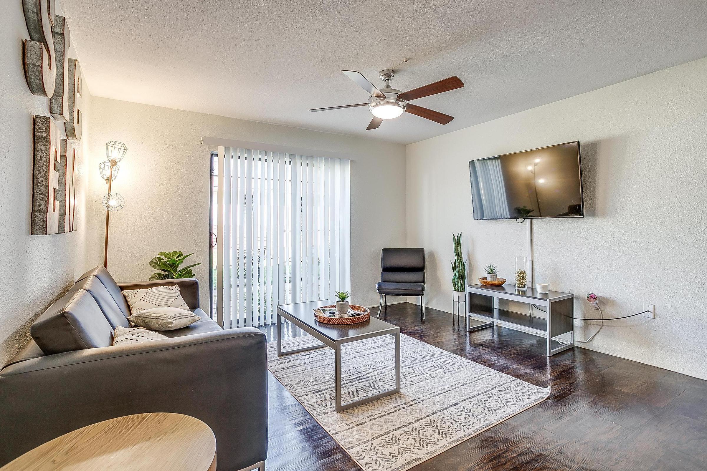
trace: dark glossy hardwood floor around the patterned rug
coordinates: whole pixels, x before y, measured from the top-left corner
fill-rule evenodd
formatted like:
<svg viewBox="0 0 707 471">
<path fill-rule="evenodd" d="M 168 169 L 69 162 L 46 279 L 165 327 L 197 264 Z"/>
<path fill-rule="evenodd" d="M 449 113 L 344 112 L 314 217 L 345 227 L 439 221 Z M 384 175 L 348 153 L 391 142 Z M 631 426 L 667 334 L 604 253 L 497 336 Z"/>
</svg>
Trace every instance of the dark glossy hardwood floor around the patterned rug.
<svg viewBox="0 0 707 471">
<path fill-rule="evenodd" d="M 506 328 L 468 335 L 451 318 L 428 308 L 421 324 L 419 307 L 405 303 L 390 305 L 386 320 L 551 395 L 412 470 L 707 470 L 707 381 L 582 348 L 548 358 L 542 338 Z M 286 336 L 297 335 L 286 324 Z M 268 471 L 360 470 L 269 377 Z"/>
</svg>

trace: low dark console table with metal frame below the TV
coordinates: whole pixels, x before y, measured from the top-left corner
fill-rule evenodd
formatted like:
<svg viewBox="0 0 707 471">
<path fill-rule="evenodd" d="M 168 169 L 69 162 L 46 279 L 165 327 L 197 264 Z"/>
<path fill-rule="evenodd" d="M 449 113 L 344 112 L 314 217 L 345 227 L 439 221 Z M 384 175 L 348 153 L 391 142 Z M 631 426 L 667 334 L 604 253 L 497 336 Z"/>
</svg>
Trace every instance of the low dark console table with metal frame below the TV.
<svg viewBox="0 0 707 471">
<path fill-rule="evenodd" d="M 498 299 L 528 304 L 529 313 L 507 311 L 498 307 Z M 547 319 L 532 316 L 532 306 L 547 309 Z M 526 291 L 515 289 L 515 285 L 467 286 L 467 331 L 498 326 L 508 327 L 547 338 L 547 356 L 574 347 L 574 294 L 559 291 L 536 292 L 531 287 Z M 472 326 L 471 319 L 483 323 Z M 570 334 L 568 343 L 554 340 L 559 335 Z"/>
</svg>

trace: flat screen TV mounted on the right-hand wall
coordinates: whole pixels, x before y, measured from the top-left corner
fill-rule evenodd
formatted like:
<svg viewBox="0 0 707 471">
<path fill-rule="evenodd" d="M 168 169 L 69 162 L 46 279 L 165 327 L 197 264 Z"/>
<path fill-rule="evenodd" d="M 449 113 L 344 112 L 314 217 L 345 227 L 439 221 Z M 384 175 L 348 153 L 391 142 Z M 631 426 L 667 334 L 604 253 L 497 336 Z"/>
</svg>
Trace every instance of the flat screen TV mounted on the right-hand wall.
<svg viewBox="0 0 707 471">
<path fill-rule="evenodd" d="M 474 219 L 584 217 L 579 141 L 470 160 Z"/>
</svg>

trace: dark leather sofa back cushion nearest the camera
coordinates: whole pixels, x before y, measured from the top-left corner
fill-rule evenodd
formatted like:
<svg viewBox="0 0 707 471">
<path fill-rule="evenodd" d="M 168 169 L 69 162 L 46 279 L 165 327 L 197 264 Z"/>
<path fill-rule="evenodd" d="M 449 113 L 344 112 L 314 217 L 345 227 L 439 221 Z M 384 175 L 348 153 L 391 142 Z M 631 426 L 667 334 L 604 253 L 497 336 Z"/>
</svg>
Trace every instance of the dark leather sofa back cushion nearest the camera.
<svg viewBox="0 0 707 471">
<path fill-rule="evenodd" d="M 30 327 L 32 338 L 45 354 L 107 347 L 113 328 L 86 290 L 69 292 L 49 306 Z"/>
</svg>

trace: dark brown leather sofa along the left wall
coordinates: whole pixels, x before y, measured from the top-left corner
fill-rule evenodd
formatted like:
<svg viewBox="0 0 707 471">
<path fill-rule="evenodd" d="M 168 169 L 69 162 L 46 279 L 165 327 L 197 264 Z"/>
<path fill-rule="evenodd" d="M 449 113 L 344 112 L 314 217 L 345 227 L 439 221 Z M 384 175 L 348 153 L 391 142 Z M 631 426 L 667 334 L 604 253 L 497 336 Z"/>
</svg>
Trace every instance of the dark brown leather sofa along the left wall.
<svg viewBox="0 0 707 471">
<path fill-rule="evenodd" d="M 113 347 L 128 326 L 121 290 L 179 285 L 201 316 L 167 340 Z M 0 370 L 0 466 L 88 424 L 142 412 L 177 412 L 209 424 L 219 470 L 267 455 L 267 354 L 256 328 L 223 330 L 199 309 L 194 279 L 117 284 L 90 270 L 30 328 L 32 340 Z"/>
</svg>

